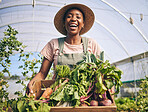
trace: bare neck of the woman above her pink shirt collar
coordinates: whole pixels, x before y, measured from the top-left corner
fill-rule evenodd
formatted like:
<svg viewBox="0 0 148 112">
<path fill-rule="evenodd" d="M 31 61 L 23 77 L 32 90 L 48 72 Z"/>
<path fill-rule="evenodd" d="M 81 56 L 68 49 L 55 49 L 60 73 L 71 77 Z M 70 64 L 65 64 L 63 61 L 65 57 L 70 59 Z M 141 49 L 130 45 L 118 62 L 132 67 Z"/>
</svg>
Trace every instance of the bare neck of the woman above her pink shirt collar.
<svg viewBox="0 0 148 112">
<path fill-rule="evenodd" d="M 80 45 L 82 37 L 80 35 L 67 35 L 65 41 L 68 44 Z"/>
</svg>

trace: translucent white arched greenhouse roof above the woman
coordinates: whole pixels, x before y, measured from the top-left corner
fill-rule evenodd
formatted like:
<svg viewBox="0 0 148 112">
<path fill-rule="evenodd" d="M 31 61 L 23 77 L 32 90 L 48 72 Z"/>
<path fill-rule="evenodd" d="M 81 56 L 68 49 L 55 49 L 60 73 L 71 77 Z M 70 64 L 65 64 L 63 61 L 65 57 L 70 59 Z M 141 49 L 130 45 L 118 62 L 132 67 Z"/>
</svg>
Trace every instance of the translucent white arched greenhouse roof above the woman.
<svg viewBox="0 0 148 112">
<path fill-rule="evenodd" d="M 52 38 L 62 37 L 54 27 L 56 12 L 69 3 L 82 3 L 95 13 L 94 38 L 111 63 L 148 51 L 148 0 L 1 0 L 0 38 L 8 25 L 19 34 L 25 51 L 40 52 Z"/>
</svg>

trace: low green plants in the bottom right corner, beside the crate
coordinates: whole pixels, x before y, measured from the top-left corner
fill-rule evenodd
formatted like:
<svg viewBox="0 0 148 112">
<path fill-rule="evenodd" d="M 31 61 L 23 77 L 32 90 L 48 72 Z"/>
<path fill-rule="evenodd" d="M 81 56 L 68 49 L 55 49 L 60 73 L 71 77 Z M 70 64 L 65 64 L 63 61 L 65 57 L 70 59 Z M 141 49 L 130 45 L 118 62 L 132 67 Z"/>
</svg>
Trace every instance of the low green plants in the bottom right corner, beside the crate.
<svg viewBox="0 0 148 112">
<path fill-rule="evenodd" d="M 140 90 L 135 100 L 130 98 L 118 98 L 115 100 L 118 111 L 148 111 L 148 77 L 141 80 Z"/>
</svg>

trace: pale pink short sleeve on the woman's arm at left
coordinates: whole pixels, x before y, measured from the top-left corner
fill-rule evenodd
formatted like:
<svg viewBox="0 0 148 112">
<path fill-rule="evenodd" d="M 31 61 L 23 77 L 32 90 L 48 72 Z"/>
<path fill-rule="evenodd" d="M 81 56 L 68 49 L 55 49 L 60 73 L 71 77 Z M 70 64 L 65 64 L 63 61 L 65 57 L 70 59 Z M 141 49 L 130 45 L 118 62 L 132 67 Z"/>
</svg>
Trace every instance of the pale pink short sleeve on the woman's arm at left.
<svg viewBox="0 0 148 112">
<path fill-rule="evenodd" d="M 53 44 L 53 40 L 51 40 L 41 50 L 40 54 L 42 54 L 49 61 L 53 61 L 53 49 L 54 49 L 54 44 Z"/>
</svg>

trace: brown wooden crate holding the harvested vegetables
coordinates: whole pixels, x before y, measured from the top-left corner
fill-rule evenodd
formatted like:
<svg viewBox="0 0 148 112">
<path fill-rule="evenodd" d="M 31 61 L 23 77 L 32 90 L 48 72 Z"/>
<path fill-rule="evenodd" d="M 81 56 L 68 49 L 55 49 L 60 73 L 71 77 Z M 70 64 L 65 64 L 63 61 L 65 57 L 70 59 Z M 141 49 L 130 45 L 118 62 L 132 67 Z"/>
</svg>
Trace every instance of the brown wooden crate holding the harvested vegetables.
<svg viewBox="0 0 148 112">
<path fill-rule="evenodd" d="M 50 87 L 54 83 L 54 80 L 41 80 L 36 81 L 33 85 L 33 92 L 35 93 L 35 98 L 39 99 L 44 92 L 42 88 Z M 116 105 L 112 96 L 108 96 L 112 100 L 113 104 L 111 106 L 88 106 L 88 107 L 51 107 L 50 112 L 116 112 Z"/>
</svg>

